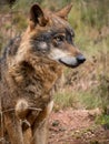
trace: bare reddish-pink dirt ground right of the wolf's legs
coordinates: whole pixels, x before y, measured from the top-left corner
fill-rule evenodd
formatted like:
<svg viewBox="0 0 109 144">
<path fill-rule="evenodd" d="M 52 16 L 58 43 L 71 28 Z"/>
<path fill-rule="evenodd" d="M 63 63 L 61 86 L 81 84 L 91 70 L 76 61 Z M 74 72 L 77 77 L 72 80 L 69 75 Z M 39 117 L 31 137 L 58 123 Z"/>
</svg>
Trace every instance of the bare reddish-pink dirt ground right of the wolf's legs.
<svg viewBox="0 0 109 144">
<path fill-rule="evenodd" d="M 109 144 L 109 130 L 95 124 L 99 110 L 66 110 L 50 116 L 49 144 Z"/>
</svg>

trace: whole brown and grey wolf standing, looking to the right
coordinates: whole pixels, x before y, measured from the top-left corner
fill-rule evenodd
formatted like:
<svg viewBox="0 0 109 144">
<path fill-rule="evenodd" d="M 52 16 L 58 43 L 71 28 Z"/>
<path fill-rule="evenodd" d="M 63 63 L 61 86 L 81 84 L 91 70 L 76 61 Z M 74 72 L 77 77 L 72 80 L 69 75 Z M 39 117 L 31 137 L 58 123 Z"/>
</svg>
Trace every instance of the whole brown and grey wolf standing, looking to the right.
<svg viewBox="0 0 109 144">
<path fill-rule="evenodd" d="M 57 12 L 34 3 L 22 35 L 10 41 L 0 59 L 0 144 L 47 144 L 52 89 L 63 66 L 86 61 L 68 22 L 72 4 Z"/>
</svg>

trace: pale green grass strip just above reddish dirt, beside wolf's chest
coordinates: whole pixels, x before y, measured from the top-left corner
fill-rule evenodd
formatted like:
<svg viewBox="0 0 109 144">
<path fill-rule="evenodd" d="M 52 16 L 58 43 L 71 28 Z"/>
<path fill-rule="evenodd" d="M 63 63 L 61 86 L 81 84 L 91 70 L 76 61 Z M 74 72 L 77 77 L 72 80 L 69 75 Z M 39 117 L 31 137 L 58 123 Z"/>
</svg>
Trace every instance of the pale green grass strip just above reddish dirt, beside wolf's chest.
<svg viewBox="0 0 109 144">
<path fill-rule="evenodd" d="M 56 110 L 60 109 L 96 109 L 100 106 L 101 99 L 96 95 L 92 95 L 91 92 L 83 91 L 72 91 L 72 92 L 63 92 L 56 93 L 54 95 Z"/>
</svg>

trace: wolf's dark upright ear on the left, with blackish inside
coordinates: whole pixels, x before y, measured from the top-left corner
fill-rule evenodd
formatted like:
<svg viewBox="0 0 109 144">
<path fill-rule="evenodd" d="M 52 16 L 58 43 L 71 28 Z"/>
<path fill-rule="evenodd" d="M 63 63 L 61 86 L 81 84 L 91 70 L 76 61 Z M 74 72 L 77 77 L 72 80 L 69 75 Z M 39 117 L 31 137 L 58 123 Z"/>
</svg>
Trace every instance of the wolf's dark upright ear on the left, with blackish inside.
<svg viewBox="0 0 109 144">
<path fill-rule="evenodd" d="M 44 27 L 48 20 L 42 9 L 38 4 L 33 4 L 30 9 L 30 27 L 33 29 L 37 24 Z"/>
</svg>

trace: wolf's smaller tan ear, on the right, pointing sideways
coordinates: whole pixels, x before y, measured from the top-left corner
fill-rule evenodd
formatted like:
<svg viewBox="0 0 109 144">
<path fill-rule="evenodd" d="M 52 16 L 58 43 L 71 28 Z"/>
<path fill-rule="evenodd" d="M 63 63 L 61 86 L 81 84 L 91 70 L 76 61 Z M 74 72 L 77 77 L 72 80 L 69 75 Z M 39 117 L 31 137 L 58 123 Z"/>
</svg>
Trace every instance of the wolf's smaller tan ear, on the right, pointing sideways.
<svg viewBox="0 0 109 144">
<path fill-rule="evenodd" d="M 56 12 L 56 14 L 65 20 L 68 19 L 68 14 L 70 12 L 72 8 L 72 3 L 70 3 L 69 6 L 65 7 L 63 9 L 61 9 L 60 11 Z"/>
</svg>

